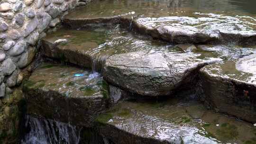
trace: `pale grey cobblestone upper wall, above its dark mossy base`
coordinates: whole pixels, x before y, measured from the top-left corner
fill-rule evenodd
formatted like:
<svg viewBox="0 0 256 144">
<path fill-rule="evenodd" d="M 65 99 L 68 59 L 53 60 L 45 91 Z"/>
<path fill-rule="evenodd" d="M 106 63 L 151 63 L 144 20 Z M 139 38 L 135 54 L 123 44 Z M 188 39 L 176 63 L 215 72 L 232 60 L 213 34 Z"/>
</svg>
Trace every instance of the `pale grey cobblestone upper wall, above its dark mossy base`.
<svg viewBox="0 0 256 144">
<path fill-rule="evenodd" d="M 22 81 L 21 69 L 33 60 L 38 39 L 60 23 L 77 0 L 2 0 L 0 2 L 0 97 Z"/>
</svg>

